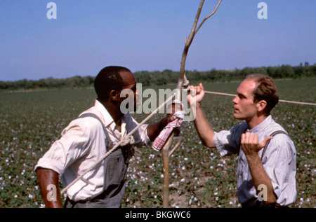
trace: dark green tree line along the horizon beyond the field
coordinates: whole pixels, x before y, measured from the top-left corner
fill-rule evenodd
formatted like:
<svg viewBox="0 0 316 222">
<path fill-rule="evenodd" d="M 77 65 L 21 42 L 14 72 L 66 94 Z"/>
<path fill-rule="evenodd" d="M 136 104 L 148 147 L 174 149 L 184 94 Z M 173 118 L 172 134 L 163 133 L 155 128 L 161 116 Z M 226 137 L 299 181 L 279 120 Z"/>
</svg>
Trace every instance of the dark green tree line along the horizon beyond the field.
<svg viewBox="0 0 316 222">
<path fill-rule="evenodd" d="M 316 76 L 316 63 L 299 66 L 282 65 L 277 67 L 246 67 L 244 69 L 210 71 L 185 71 L 190 83 L 211 81 L 239 81 L 249 74 L 267 74 L 272 78 L 310 78 Z M 164 71 L 136 71 L 138 83 L 144 86 L 166 85 L 177 83 L 179 71 L 165 69 Z M 20 81 L 0 81 L 0 90 L 36 90 L 41 88 L 89 88 L 93 87 L 95 76 L 74 76 L 71 78 L 43 78 L 38 81 L 23 79 Z"/>
</svg>

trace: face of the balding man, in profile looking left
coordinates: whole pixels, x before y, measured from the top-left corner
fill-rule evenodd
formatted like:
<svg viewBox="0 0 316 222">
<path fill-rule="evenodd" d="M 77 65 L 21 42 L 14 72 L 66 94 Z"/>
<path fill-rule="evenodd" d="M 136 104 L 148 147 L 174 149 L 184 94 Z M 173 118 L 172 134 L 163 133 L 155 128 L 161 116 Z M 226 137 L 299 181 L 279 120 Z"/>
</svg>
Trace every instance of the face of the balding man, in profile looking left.
<svg viewBox="0 0 316 222">
<path fill-rule="evenodd" d="M 239 120 L 251 120 L 257 115 L 253 91 L 256 88 L 254 80 L 244 80 L 237 88 L 237 96 L 232 99 L 234 103 L 233 117 Z"/>
</svg>

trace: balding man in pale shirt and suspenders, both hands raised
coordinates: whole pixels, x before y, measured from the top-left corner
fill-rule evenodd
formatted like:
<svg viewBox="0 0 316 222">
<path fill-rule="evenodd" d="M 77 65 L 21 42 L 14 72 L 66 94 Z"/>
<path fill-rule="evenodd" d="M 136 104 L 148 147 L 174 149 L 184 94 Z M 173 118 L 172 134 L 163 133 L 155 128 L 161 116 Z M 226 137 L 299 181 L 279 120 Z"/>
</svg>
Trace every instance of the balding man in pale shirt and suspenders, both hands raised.
<svg viewBox="0 0 316 222">
<path fill-rule="evenodd" d="M 245 120 L 214 132 L 202 110 L 202 83 L 196 90 L 195 127 L 203 144 L 221 156 L 237 154 L 237 197 L 242 207 L 287 207 L 296 200 L 296 148 L 270 111 L 279 101 L 272 78 L 246 76 L 237 88 L 233 117 Z M 190 103 L 190 95 L 187 97 Z M 280 132 L 271 136 L 273 132 Z M 266 148 L 263 148 L 265 147 Z M 262 192 L 261 192 L 262 191 Z"/>
</svg>

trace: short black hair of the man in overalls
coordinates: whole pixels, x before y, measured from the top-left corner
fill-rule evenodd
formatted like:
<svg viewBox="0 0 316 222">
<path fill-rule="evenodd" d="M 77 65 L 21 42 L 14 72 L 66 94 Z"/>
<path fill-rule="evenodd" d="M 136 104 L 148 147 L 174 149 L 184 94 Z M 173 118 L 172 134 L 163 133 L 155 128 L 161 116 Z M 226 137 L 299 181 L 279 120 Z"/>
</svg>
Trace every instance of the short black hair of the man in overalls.
<svg viewBox="0 0 316 222">
<path fill-rule="evenodd" d="M 130 71 L 125 67 L 110 66 L 103 68 L 94 80 L 94 89 L 98 95 L 98 99 L 108 99 L 112 90 L 121 91 L 124 87 L 123 78 L 120 73 L 122 71 Z"/>
</svg>

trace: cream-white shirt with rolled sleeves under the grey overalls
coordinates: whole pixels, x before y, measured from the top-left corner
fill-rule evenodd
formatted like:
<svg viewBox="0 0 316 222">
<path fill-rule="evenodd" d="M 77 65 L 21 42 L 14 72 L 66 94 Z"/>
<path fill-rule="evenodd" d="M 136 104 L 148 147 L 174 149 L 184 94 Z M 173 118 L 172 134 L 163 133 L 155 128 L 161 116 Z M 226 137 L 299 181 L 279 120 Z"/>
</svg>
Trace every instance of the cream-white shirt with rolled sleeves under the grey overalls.
<svg viewBox="0 0 316 222">
<path fill-rule="evenodd" d="M 62 131 L 62 137 L 39 159 L 35 170 L 38 167 L 53 169 L 62 177 L 63 186 L 67 186 L 138 125 L 129 113 L 124 114 L 121 123 L 126 126 L 126 130 L 121 130 L 123 135 L 116 130 L 105 106 L 96 100 L 91 109 L 81 113 Z M 147 125 L 133 133 L 133 141 L 133 145 L 138 147 L 150 145 Z M 103 191 L 105 171 L 105 165 L 91 170 L 67 190 L 67 196 L 79 201 L 98 195 Z"/>
</svg>

